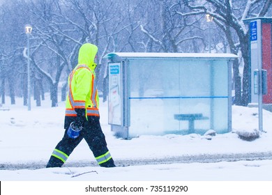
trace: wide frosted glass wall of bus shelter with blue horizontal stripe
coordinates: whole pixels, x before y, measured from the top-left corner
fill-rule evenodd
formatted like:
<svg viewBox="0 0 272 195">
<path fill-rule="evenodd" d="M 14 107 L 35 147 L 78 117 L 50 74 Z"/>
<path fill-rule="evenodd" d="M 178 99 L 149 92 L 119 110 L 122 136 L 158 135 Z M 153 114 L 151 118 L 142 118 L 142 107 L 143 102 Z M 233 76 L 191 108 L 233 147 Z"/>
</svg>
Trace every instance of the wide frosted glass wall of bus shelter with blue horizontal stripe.
<svg viewBox="0 0 272 195">
<path fill-rule="evenodd" d="M 227 61 L 130 60 L 129 75 L 130 136 L 227 132 Z"/>
</svg>

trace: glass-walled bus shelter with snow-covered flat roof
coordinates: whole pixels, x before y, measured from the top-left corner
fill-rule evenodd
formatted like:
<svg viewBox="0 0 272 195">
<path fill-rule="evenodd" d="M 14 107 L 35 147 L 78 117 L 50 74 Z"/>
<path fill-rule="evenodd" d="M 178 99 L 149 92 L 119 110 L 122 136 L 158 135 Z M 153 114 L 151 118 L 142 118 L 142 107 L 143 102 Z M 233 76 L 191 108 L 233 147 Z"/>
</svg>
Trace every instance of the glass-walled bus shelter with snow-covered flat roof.
<svg viewBox="0 0 272 195">
<path fill-rule="evenodd" d="M 115 52 L 104 58 L 108 122 L 117 137 L 232 130 L 236 55 Z"/>
</svg>

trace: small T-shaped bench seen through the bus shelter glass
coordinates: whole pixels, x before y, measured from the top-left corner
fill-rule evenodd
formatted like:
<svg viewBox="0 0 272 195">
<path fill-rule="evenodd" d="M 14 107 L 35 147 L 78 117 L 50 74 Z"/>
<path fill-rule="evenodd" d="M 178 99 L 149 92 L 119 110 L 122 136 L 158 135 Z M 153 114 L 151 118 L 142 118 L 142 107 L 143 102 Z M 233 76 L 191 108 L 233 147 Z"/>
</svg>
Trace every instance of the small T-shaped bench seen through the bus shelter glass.
<svg viewBox="0 0 272 195">
<path fill-rule="evenodd" d="M 174 114 L 176 120 L 188 120 L 189 133 L 195 132 L 195 120 L 208 120 L 209 117 L 203 116 L 203 114 Z"/>
</svg>

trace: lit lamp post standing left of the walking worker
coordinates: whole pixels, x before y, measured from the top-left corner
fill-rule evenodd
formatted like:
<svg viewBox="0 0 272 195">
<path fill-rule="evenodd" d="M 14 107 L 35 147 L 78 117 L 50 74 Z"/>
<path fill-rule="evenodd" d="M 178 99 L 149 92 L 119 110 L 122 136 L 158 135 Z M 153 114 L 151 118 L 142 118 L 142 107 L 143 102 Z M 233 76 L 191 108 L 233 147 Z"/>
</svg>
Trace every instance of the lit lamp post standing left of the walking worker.
<svg viewBox="0 0 272 195">
<path fill-rule="evenodd" d="M 30 96 L 31 96 L 31 91 L 30 91 L 30 59 L 29 59 L 29 36 L 32 31 L 32 26 L 27 24 L 24 26 L 24 30 L 27 34 L 27 109 L 30 111 L 31 110 L 31 101 L 30 101 Z"/>
</svg>

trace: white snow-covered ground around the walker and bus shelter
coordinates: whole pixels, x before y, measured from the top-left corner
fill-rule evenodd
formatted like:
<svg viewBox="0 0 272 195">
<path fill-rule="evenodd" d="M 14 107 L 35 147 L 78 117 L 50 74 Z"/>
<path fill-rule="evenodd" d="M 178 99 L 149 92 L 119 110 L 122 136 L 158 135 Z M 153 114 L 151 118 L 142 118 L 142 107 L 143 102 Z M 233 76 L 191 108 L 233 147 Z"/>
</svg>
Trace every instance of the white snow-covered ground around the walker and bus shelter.
<svg viewBox="0 0 272 195">
<path fill-rule="evenodd" d="M 63 136 L 64 102 L 55 108 L 50 107 L 49 100 L 43 101 L 42 107 L 32 102 L 31 111 L 27 111 L 20 101 L 17 99 L 16 105 L 4 104 L 10 110 L 0 111 L 2 181 L 272 181 L 272 113 L 266 110 L 263 111 L 266 133 L 260 133 L 252 141 L 240 139 L 235 132 L 258 129 L 257 108 L 237 106 L 232 107 L 233 132 L 216 134 L 211 140 L 198 134 L 125 140 L 113 136 L 107 124 L 107 103 L 100 101 L 100 123 L 110 153 L 119 166 L 113 169 L 97 166 L 91 150 L 82 141 L 66 166 L 45 169 L 52 150 Z M 255 153 L 259 154 L 255 160 L 247 157 Z M 211 162 L 204 163 L 209 162 L 209 157 Z M 219 162 L 219 157 L 226 160 Z M 266 159 L 261 160 L 262 157 Z M 78 173 L 85 174 L 76 176 Z"/>
</svg>

